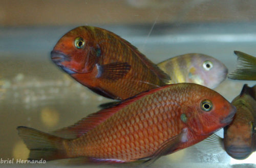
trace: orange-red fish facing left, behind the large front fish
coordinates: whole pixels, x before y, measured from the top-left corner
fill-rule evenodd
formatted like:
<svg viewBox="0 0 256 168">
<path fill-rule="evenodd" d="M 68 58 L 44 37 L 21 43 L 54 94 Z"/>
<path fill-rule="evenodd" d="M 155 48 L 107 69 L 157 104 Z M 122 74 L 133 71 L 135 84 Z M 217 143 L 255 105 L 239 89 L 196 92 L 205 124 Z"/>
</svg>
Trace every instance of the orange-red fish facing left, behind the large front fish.
<svg viewBox="0 0 256 168">
<path fill-rule="evenodd" d="M 79 26 L 51 52 L 52 61 L 82 85 L 112 99 L 126 99 L 170 79 L 132 44 L 99 27 Z"/>
</svg>

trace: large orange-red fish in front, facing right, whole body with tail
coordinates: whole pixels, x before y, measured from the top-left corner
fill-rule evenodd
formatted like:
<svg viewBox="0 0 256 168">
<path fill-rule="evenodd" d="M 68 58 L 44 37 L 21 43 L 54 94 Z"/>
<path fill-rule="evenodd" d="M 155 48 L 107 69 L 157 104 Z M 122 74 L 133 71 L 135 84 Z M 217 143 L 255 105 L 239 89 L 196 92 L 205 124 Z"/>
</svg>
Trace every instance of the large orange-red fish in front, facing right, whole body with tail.
<svg viewBox="0 0 256 168">
<path fill-rule="evenodd" d="M 236 108 L 217 92 L 178 83 L 102 109 L 55 131 L 58 136 L 28 127 L 17 130 L 30 149 L 31 160 L 145 161 L 202 141 L 230 123 L 235 113 Z"/>
</svg>

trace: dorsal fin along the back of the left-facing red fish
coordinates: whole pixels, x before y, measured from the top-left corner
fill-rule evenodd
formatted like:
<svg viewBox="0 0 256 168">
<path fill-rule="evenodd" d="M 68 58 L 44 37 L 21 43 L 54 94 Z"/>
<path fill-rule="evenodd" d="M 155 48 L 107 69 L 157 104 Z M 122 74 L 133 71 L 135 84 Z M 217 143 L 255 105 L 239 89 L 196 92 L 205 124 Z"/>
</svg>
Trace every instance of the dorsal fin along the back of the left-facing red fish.
<svg viewBox="0 0 256 168">
<path fill-rule="evenodd" d="M 128 46 L 129 48 L 131 48 L 131 50 L 133 50 L 136 55 L 138 56 L 138 58 L 149 68 L 153 71 L 153 73 L 155 73 L 162 82 L 164 83 L 168 83 L 170 80 L 170 76 L 167 75 L 165 72 L 163 72 L 156 64 L 154 64 L 151 60 L 147 59 L 146 56 L 144 54 L 142 54 L 134 45 L 132 45 L 130 42 L 124 40 L 123 38 L 121 38 L 120 36 L 114 34 L 113 32 L 101 29 L 99 27 L 97 27 L 98 29 L 102 30 L 102 31 L 106 31 L 108 33 L 110 33 L 112 36 L 116 37 L 116 39 L 119 39 L 121 42 L 123 42 L 126 46 Z"/>
</svg>

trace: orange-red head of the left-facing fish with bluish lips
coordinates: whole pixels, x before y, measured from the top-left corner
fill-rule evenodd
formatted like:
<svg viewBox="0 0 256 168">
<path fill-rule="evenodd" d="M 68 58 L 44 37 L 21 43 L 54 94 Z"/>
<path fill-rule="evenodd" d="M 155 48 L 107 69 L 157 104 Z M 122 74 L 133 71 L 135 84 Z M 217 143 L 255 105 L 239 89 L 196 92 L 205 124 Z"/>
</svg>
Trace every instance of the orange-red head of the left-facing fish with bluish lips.
<svg viewBox="0 0 256 168">
<path fill-rule="evenodd" d="M 59 39 L 51 52 L 51 59 L 69 74 L 89 73 L 101 54 L 94 41 L 92 27 L 76 27 Z"/>
</svg>

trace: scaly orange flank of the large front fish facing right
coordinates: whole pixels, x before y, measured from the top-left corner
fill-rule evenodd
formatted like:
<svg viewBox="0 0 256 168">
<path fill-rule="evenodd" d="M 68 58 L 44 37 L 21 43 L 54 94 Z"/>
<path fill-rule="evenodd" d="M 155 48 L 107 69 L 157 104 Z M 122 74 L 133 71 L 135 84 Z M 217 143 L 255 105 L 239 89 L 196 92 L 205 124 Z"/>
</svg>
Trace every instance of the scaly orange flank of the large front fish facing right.
<svg viewBox="0 0 256 168">
<path fill-rule="evenodd" d="M 164 94 L 166 97 L 170 95 L 170 93 L 168 92 L 164 92 Z M 158 100 L 156 100 L 155 97 L 158 96 L 159 93 L 156 93 L 156 95 L 143 98 L 132 105 L 126 106 L 124 109 L 120 110 L 117 114 L 115 114 L 110 120 L 107 120 L 106 122 L 104 122 L 104 124 L 98 126 L 93 131 L 88 132 L 86 136 L 72 142 L 71 144 L 76 145 L 86 143 L 86 147 L 83 148 L 84 151 L 78 153 L 77 156 L 83 154 L 91 157 L 101 158 L 116 157 L 113 156 L 111 150 L 108 150 L 107 152 L 101 151 L 102 148 L 105 148 L 104 144 L 108 144 L 108 147 L 106 147 L 106 149 L 111 149 L 116 146 L 116 144 L 124 142 L 124 144 L 117 146 L 116 153 L 117 155 L 121 155 L 123 150 L 126 151 L 129 147 L 124 139 L 131 139 L 131 137 L 132 139 L 138 140 L 135 142 L 135 144 L 132 145 L 134 147 L 130 149 L 130 155 L 133 154 L 134 158 L 141 158 L 148 154 L 153 154 L 153 152 L 157 150 L 156 148 L 158 148 L 159 144 L 163 143 L 167 139 L 167 137 L 170 137 L 173 134 L 178 134 L 178 132 L 180 132 L 182 128 L 179 127 L 179 125 L 182 125 L 182 123 L 180 122 L 180 120 L 177 120 L 181 111 L 180 107 L 176 105 L 178 103 L 169 103 L 170 101 L 175 102 L 175 97 L 172 97 L 171 99 L 168 97 L 168 100 L 163 102 L 166 106 L 171 105 L 173 107 L 174 110 L 172 111 L 172 113 L 165 110 L 160 110 L 160 107 L 158 107 L 157 105 L 152 105 L 148 107 L 147 104 L 157 104 Z M 184 100 L 181 100 L 180 103 L 182 103 L 182 101 Z M 142 109 L 141 111 L 137 112 L 137 106 L 139 106 L 139 104 L 142 104 L 142 106 L 144 107 L 148 107 L 148 109 Z M 129 124 L 124 124 L 124 122 Z M 166 125 L 166 123 L 168 124 Z M 139 126 L 141 124 L 143 127 Z M 129 125 L 130 127 L 130 132 L 128 134 L 126 134 L 125 131 L 127 125 Z M 174 127 L 174 125 L 176 125 L 176 127 Z M 165 138 L 162 134 L 156 133 L 162 132 L 162 130 L 165 130 L 162 133 L 165 134 Z M 107 136 L 104 135 L 105 133 L 107 134 Z M 110 137 L 108 138 L 108 140 L 116 140 L 114 142 L 109 141 L 108 143 L 106 143 L 106 139 L 102 137 Z M 77 141 L 80 141 L 80 143 L 78 143 Z M 153 148 L 146 148 L 145 144 L 147 144 L 147 146 L 152 146 Z M 75 147 L 72 147 L 72 145 L 70 146 L 71 151 L 74 148 Z M 143 148 L 143 150 L 141 150 L 141 148 Z M 137 154 L 134 155 L 134 153 Z M 122 159 L 127 160 L 129 158 L 123 156 Z"/>
</svg>

